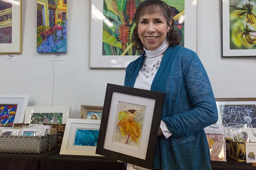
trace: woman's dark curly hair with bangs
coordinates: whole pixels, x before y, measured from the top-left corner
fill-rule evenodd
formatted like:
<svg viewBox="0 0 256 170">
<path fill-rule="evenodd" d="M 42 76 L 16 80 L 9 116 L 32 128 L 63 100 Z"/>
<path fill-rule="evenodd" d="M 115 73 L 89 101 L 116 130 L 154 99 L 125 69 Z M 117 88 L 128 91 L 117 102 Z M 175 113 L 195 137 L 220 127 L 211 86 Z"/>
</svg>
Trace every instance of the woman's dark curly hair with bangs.
<svg viewBox="0 0 256 170">
<path fill-rule="evenodd" d="M 140 38 L 138 37 L 138 22 L 139 17 L 143 16 L 144 14 L 152 14 L 152 13 L 161 13 L 165 17 L 168 26 L 171 28 L 169 33 L 170 35 L 167 36 L 167 41 L 169 42 L 170 46 L 178 45 L 180 44 L 181 37 L 178 35 L 177 30 L 174 30 L 173 28 L 173 19 L 172 19 L 172 11 L 167 5 L 167 3 L 161 1 L 161 0 L 145 0 L 139 4 L 139 6 L 136 9 L 136 12 L 134 14 L 134 22 L 136 24 L 133 34 L 131 37 L 131 43 L 133 44 L 133 48 L 141 51 L 143 50 L 143 43 L 141 42 Z M 170 25 L 170 21 L 172 20 L 172 25 Z"/>
</svg>

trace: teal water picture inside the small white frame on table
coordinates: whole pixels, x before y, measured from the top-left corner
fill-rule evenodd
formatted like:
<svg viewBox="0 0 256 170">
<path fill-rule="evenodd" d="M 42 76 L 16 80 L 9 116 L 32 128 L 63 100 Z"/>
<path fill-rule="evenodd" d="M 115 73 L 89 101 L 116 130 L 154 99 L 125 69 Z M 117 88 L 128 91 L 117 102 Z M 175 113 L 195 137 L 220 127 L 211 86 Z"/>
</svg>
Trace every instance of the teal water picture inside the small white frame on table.
<svg viewBox="0 0 256 170">
<path fill-rule="evenodd" d="M 99 130 L 76 129 L 75 146 L 97 146 Z"/>
</svg>

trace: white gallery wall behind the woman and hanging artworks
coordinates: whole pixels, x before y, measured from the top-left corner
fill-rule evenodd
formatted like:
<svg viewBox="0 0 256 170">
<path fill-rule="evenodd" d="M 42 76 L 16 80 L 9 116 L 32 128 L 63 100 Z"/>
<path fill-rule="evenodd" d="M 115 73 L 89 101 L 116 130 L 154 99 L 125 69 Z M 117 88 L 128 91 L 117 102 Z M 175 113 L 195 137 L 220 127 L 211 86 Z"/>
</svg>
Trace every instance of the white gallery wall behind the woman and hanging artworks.
<svg viewBox="0 0 256 170">
<path fill-rule="evenodd" d="M 256 97 L 256 57 L 222 57 L 220 3 L 198 0 L 197 53 L 215 98 Z M 68 1 L 63 61 L 36 52 L 36 0 L 22 5 L 22 53 L 12 62 L 0 54 L 0 94 L 29 94 L 29 106 L 72 106 L 70 118 L 81 105 L 103 106 L 107 83 L 123 85 L 125 69 L 89 68 L 91 0 Z"/>
</svg>

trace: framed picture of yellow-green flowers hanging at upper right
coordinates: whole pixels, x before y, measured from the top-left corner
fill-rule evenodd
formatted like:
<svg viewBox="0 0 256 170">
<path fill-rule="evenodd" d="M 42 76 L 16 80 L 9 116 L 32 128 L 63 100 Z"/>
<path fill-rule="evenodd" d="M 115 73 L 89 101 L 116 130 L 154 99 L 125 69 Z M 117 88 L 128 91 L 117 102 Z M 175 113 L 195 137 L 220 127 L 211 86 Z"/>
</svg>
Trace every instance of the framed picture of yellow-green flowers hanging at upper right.
<svg viewBox="0 0 256 170">
<path fill-rule="evenodd" d="M 256 0 L 222 0 L 222 56 L 256 56 Z"/>
</svg>

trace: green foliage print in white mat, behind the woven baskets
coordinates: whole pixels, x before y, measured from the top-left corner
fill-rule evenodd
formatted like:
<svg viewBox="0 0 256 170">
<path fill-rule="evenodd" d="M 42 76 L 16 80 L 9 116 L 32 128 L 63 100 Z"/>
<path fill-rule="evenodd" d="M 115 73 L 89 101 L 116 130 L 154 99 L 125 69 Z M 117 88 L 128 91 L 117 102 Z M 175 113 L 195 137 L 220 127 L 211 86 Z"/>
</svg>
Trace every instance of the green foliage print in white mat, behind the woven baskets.
<svg viewBox="0 0 256 170">
<path fill-rule="evenodd" d="M 31 124 L 62 124 L 63 113 L 33 113 Z"/>
</svg>

